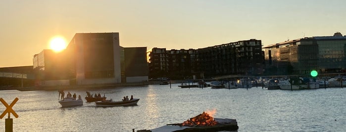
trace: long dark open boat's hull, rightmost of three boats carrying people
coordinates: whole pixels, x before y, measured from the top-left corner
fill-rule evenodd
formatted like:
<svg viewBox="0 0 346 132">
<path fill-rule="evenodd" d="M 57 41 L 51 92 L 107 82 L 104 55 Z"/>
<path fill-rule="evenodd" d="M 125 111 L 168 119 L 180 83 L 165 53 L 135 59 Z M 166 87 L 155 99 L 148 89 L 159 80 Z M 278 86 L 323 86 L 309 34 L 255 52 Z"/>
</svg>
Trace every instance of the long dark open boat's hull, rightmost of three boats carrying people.
<svg viewBox="0 0 346 132">
<path fill-rule="evenodd" d="M 113 101 L 110 100 L 102 100 L 102 101 L 96 101 L 96 106 L 129 106 L 129 105 L 137 105 L 137 102 L 140 99 L 132 99 L 129 101 Z"/>
</svg>

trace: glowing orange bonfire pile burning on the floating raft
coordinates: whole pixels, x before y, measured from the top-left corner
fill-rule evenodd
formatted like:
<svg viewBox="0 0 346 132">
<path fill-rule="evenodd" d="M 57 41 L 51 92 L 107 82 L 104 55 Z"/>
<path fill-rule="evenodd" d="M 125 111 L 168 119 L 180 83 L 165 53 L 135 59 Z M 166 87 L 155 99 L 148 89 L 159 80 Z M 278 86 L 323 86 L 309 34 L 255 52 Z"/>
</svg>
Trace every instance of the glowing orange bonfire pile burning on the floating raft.
<svg viewBox="0 0 346 132">
<path fill-rule="evenodd" d="M 216 110 L 213 110 L 213 111 L 214 112 L 212 114 L 215 114 Z M 199 114 L 198 116 L 190 118 L 189 120 L 182 123 L 182 126 L 186 126 L 186 127 L 215 126 L 215 125 L 217 125 L 217 122 L 214 120 L 212 116 L 210 116 L 206 112 L 203 112 L 202 114 Z"/>
</svg>

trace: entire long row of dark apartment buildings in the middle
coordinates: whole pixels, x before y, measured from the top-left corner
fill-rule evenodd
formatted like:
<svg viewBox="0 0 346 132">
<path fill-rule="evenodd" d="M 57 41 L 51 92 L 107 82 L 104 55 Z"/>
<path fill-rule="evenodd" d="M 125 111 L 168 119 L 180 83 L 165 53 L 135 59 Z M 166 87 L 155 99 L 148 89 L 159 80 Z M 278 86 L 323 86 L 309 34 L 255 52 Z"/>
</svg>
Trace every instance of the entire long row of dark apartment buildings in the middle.
<svg viewBox="0 0 346 132">
<path fill-rule="evenodd" d="M 201 49 L 166 50 L 153 48 L 149 53 L 150 77 L 173 78 L 263 73 L 261 40 L 250 39 Z"/>
</svg>

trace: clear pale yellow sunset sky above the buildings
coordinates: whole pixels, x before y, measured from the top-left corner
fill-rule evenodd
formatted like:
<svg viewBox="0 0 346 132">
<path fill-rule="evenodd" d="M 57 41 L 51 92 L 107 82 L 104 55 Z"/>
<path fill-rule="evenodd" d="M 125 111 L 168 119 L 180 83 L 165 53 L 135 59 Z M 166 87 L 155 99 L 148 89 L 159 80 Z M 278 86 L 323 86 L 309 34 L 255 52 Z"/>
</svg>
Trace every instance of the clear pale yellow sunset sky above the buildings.
<svg viewBox="0 0 346 132">
<path fill-rule="evenodd" d="M 0 67 L 32 66 L 49 40 L 119 33 L 120 46 L 198 49 L 346 35 L 346 0 L 1 0 Z"/>
</svg>

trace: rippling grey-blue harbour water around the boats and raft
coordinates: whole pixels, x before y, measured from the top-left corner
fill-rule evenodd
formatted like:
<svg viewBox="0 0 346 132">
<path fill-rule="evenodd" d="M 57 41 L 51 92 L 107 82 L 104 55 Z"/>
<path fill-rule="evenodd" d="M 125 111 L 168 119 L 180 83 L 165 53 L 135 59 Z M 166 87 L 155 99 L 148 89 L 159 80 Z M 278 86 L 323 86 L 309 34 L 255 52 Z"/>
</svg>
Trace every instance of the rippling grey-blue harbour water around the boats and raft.
<svg viewBox="0 0 346 132">
<path fill-rule="evenodd" d="M 183 123 L 206 110 L 215 118 L 237 119 L 238 132 L 345 132 L 346 88 L 263 90 L 178 88 L 179 84 L 89 90 L 107 99 L 139 98 L 137 106 L 61 108 L 57 91 L 0 91 L 8 104 L 16 97 L 14 132 L 132 132 Z M 68 91 L 65 91 L 68 92 Z M 71 90 L 83 98 L 86 90 Z M 85 99 L 84 99 L 85 101 Z M 1 104 L 0 112 L 5 110 Z M 4 118 L 7 118 L 7 114 Z M 4 131 L 0 119 L 0 132 Z"/>
</svg>

